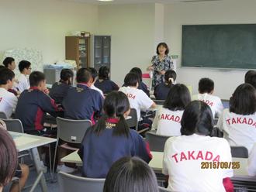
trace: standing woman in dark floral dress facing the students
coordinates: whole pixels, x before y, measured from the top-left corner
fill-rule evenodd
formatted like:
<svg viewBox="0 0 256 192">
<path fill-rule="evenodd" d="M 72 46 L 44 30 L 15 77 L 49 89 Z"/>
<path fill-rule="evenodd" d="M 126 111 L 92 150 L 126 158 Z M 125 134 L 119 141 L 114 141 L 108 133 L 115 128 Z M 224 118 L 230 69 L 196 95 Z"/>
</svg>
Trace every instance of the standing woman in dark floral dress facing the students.
<svg viewBox="0 0 256 192">
<path fill-rule="evenodd" d="M 152 87 L 157 86 L 157 84 L 163 83 L 165 71 L 174 68 L 171 57 L 168 56 L 168 53 L 169 48 L 166 43 L 159 43 L 157 45 L 157 55 L 152 57 L 152 65 L 148 67 L 148 70 L 154 70 Z"/>
</svg>

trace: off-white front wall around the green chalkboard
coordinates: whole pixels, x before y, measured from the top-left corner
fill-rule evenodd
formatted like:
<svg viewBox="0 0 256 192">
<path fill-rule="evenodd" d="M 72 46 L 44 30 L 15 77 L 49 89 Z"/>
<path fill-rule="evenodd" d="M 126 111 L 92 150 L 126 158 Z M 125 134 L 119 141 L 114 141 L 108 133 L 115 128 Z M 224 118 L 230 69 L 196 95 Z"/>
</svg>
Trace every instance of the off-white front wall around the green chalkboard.
<svg viewBox="0 0 256 192">
<path fill-rule="evenodd" d="M 182 25 L 255 23 L 256 1 L 226 0 L 216 2 L 174 3 L 164 6 L 164 39 L 171 46 L 171 54 L 182 57 Z M 180 60 L 179 60 L 180 63 Z M 201 77 L 215 81 L 215 94 L 230 98 L 234 89 L 244 82 L 246 70 L 210 70 L 178 68 L 178 82 L 191 84 L 193 92 L 198 89 Z"/>
</svg>

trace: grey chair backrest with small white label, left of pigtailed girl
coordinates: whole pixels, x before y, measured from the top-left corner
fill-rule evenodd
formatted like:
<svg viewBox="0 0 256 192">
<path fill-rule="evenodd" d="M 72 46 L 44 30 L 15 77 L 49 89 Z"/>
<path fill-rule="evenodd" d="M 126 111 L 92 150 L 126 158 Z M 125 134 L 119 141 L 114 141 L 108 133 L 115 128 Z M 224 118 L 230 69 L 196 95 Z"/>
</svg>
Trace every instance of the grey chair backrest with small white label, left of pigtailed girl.
<svg viewBox="0 0 256 192">
<path fill-rule="evenodd" d="M 92 126 L 90 120 L 71 120 L 66 118 L 56 118 L 57 139 L 64 142 L 81 143 L 86 130 Z"/>
</svg>

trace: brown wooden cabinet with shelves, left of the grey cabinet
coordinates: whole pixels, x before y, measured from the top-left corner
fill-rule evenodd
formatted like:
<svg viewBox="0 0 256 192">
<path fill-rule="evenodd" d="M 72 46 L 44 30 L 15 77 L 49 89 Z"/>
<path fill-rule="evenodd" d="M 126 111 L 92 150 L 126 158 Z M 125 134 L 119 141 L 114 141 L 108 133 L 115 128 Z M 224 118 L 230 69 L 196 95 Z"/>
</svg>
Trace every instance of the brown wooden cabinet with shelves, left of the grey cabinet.
<svg viewBox="0 0 256 192">
<path fill-rule="evenodd" d="M 77 68 L 89 67 L 90 37 L 66 36 L 66 60 L 75 60 Z"/>
</svg>

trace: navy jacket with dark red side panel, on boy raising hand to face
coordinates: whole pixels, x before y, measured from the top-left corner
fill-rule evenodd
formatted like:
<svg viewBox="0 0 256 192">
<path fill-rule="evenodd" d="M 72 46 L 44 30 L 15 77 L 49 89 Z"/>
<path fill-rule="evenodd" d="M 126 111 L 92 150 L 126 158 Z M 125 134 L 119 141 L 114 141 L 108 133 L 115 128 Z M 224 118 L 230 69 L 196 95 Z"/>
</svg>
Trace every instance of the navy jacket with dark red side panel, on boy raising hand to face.
<svg viewBox="0 0 256 192">
<path fill-rule="evenodd" d="M 30 87 L 20 94 L 15 116 L 23 125 L 25 132 L 43 130 L 44 116 L 57 116 L 57 105 L 47 94 L 37 87 Z"/>
</svg>

